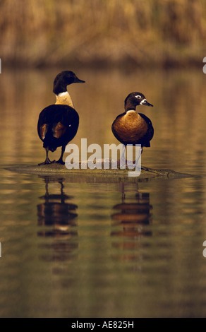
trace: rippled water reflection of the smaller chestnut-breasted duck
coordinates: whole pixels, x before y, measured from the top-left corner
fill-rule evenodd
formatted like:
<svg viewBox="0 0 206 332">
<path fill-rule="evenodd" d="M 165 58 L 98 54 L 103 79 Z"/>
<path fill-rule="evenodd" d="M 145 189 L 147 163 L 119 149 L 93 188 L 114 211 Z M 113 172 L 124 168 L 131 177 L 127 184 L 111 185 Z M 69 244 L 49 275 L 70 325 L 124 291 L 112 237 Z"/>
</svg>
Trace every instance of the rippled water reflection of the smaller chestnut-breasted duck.
<svg viewBox="0 0 206 332">
<path fill-rule="evenodd" d="M 121 203 L 114 207 L 116 213 L 111 215 L 113 221 L 111 237 L 112 246 L 121 249 L 115 259 L 133 261 L 140 259 L 140 240 L 152 236 L 150 223 L 152 222 L 152 206 L 150 194 L 137 191 L 133 198 L 126 198 L 124 188 Z"/>
</svg>

